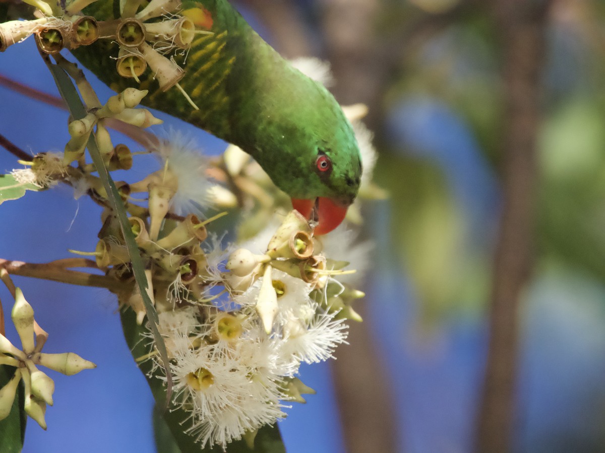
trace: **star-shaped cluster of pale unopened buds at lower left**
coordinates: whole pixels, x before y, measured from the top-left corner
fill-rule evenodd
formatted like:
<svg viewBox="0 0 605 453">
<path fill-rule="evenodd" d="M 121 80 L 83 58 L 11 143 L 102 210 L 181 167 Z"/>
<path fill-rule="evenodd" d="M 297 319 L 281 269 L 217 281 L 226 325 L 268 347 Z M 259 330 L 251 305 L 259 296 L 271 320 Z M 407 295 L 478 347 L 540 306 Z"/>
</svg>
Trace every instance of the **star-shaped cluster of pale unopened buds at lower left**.
<svg viewBox="0 0 605 453">
<path fill-rule="evenodd" d="M 46 406 L 53 405 L 54 381 L 44 371 L 39 370 L 37 365 L 68 376 L 96 368 L 96 365 L 73 352 L 43 353 L 42 347 L 48 334 L 34 320 L 34 311 L 19 288 L 15 291 L 11 318 L 21 339 L 21 349 L 15 347 L 4 335 L 0 335 L 0 365 L 16 368 L 10 381 L 0 389 L 0 420 L 10 414 L 19 381 L 23 381 L 25 413 L 46 429 L 44 415 Z"/>
</svg>

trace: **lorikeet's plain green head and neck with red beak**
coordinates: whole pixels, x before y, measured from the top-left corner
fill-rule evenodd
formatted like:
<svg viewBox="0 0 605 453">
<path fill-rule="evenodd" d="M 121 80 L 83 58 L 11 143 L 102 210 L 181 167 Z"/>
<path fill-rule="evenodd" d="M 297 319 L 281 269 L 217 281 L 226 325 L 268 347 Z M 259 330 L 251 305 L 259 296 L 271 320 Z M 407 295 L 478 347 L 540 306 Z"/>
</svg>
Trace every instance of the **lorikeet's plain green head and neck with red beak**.
<svg viewBox="0 0 605 453">
<path fill-rule="evenodd" d="M 275 68 L 276 75 L 264 77 L 255 96 L 240 104 L 246 103 L 236 143 L 289 194 L 299 212 L 318 220 L 315 234 L 325 234 L 342 222 L 359 190 L 355 132 L 324 86 L 290 66 Z"/>
</svg>

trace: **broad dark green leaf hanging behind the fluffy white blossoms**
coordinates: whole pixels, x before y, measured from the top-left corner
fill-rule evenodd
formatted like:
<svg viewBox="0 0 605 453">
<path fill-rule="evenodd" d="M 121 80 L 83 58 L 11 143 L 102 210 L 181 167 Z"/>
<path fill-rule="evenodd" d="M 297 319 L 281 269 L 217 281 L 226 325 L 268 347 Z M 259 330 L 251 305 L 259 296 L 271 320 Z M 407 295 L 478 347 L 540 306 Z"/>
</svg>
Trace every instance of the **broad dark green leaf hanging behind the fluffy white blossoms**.
<svg viewBox="0 0 605 453">
<path fill-rule="evenodd" d="M 144 326 L 137 325 L 136 315 L 131 308 L 126 308 L 120 312 L 122 318 L 122 328 L 124 336 L 128 343 L 132 356 L 136 359 L 142 357 L 149 352 L 148 336 Z M 166 400 L 166 391 L 163 382 L 155 375 L 149 377 L 151 372 L 151 360 L 143 361 L 139 364 L 140 370 L 145 375 L 151 392 L 156 403 L 160 404 Z M 155 442 L 157 449 L 161 452 L 177 453 L 180 448 L 181 452 L 187 453 L 216 453 L 220 448 L 210 446 L 201 448 L 201 445 L 195 442 L 194 437 L 185 433 L 188 428 L 188 419 L 190 413 L 181 409 L 171 407 L 170 410 L 159 411 L 155 409 L 154 428 Z M 185 423 L 183 423 L 185 422 Z M 277 426 L 263 426 L 258 430 L 257 437 L 254 441 L 254 449 L 248 448 L 246 442 L 238 440 L 227 445 L 227 453 L 285 453 L 286 448 L 281 440 L 280 430 Z"/>
</svg>

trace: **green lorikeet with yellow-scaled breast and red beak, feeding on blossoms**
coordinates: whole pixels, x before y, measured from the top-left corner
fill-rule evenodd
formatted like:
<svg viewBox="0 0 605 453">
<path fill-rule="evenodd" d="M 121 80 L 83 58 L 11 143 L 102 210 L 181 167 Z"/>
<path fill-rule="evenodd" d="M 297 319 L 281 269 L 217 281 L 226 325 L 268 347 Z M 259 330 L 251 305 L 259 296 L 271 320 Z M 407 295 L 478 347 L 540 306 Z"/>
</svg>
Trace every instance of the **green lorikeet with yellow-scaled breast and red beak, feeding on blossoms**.
<svg viewBox="0 0 605 453">
<path fill-rule="evenodd" d="M 113 2 L 98 0 L 84 10 L 96 19 L 113 19 Z M 284 60 L 247 24 L 227 0 L 185 1 L 181 14 L 197 30 L 180 86 L 162 91 L 152 71 L 140 84 L 120 77 L 118 47 L 110 40 L 73 50 L 83 65 L 116 91 L 149 89 L 143 104 L 166 111 L 240 146 L 292 198 L 296 210 L 325 234 L 341 223 L 361 181 L 361 158 L 351 124 L 321 84 Z"/>
</svg>

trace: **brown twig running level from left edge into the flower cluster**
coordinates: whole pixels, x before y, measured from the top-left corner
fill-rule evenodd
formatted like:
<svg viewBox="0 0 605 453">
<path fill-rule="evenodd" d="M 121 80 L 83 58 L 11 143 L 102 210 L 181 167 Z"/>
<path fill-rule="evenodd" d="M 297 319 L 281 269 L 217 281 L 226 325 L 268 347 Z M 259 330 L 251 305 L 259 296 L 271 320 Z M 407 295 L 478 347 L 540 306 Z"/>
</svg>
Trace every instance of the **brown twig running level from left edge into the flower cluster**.
<svg viewBox="0 0 605 453">
<path fill-rule="evenodd" d="M 0 259 L 0 276 L 2 273 L 21 275 L 22 277 L 42 278 L 43 280 L 58 281 L 59 283 L 77 284 L 78 286 L 93 286 L 106 288 L 112 292 L 120 291 L 124 284 L 106 275 L 89 274 L 88 272 L 71 271 L 57 266 L 56 263 L 24 263 Z M 4 278 L 2 278 L 4 280 Z"/>
</svg>

